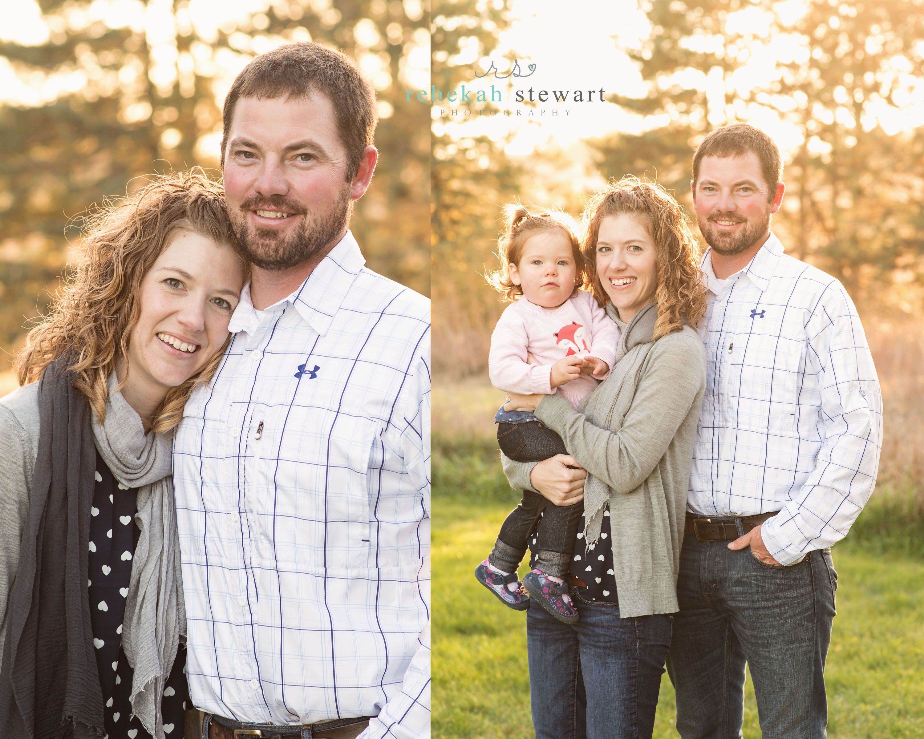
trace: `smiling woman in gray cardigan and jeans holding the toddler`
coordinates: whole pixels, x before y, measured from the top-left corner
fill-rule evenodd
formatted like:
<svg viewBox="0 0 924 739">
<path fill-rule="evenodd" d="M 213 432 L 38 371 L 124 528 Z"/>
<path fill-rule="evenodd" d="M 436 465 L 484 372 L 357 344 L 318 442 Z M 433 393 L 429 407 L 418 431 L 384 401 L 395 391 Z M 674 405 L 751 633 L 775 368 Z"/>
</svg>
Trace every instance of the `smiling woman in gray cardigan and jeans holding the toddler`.
<svg viewBox="0 0 924 739">
<path fill-rule="evenodd" d="M 706 380 L 696 333 L 705 287 L 676 200 L 626 176 L 590 198 L 585 218 L 590 286 L 605 305 L 604 321 L 619 327 L 613 370 L 577 408 L 560 393 L 510 394 L 511 404 L 533 410 L 560 437 L 567 454 L 538 462 L 503 457 L 512 487 L 525 494 L 556 507 L 583 497 L 566 564 L 571 588 L 548 588 L 571 597 L 577 618 L 566 621 L 542 604 L 528 586 L 536 570 L 524 577 L 529 603 L 511 605 L 528 610 L 539 739 L 651 736 L 668 614 L 677 611 L 687 479 Z M 536 531 L 541 539 L 541 524 Z M 537 537 L 527 533 L 535 546 Z"/>
</svg>

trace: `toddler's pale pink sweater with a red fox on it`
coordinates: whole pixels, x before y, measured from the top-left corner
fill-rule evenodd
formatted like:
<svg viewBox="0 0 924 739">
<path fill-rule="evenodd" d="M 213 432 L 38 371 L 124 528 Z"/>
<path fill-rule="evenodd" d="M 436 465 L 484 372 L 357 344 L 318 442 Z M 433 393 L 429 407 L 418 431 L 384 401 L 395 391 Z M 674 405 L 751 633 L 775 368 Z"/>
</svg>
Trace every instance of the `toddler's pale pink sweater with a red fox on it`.
<svg viewBox="0 0 924 739">
<path fill-rule="evenodd" d="M 519 394 L 558 391 L 572 406 L 597 387 L 590 375 L 553 388 L 552 365 L 572 354 L 602 359 L 613 369 L 619 329 L 583 290 L 555 309 L 520 297 L 501 314 L 491 336 L 488 373 L 498 390 Z M 540 362 L 529 364 L 527 354 Z M 604 375 L 605 377 L 605 375 Z"/>
</svg>

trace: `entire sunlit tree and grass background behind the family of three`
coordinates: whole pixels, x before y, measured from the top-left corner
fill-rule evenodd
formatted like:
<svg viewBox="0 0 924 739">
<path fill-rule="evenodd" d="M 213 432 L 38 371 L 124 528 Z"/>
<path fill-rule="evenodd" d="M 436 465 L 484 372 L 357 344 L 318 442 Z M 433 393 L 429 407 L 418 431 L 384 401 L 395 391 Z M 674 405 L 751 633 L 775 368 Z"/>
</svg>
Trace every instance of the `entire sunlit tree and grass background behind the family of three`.
<svg viewBox="0 0 924 739">
<path fill-rule="evenodd" d="M 481 77 L 492 63 L 505 75 L 515 59 L 533 74 Z M 565 11 L 552 0 L 434 0 L 432 79 L 444 93 L 505 86 L 501 103 L 444 98 L 431 110 L 434 735 L 532 735 L 522 614 L 472 577 L 517 503 L 493 440 L 504 395 L 486 376 L 505 305 L 482 275 L 497 264 L 502 206 L 579 216 L 595 188 L 633 174 L 692 212 L 693 151 L 735 121 L 783 150 L 773 231 L 787 253 L 844 283 L 884 394 L 879 484 L 834 548 L 829 735 L 920 735 L 924 2 L 585 0 Z M 572 103 L 510 94 L 529 88 L 570 90 Z M 573 103 L 576 89 L 600 88 L 606 103 Z M 665 678 L 655 736 L 676 736 L 673 719 Z M 745 736 L 760 736 L 749 680 Z"/>
</svg>

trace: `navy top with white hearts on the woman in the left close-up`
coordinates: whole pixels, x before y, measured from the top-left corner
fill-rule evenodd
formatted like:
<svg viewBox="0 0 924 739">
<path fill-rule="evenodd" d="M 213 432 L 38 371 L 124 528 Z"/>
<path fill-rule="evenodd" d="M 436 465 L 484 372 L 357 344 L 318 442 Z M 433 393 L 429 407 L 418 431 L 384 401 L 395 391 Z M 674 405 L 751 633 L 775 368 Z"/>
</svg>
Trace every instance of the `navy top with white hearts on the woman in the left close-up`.
<svg viewBox="0 0 924 739">
<path fill-rule="evenodd" d="M 150 739 L 138 719 L 131 718 L 133 670 L 122 650 L 122 620 L 131 560 L 140 530 L 135 523 L 137 491 L 120 488 L 109 467 L 96 453 L 96 488 L 90 519 L 90 621 L 96 666 L 103 688 L 103 715 L 109 739 Z M 164 733 L 170 739 L 183 736 L 187 706 L 186 648 L 176 651 L 173 672 L 161 703 Z"/>
</svg>

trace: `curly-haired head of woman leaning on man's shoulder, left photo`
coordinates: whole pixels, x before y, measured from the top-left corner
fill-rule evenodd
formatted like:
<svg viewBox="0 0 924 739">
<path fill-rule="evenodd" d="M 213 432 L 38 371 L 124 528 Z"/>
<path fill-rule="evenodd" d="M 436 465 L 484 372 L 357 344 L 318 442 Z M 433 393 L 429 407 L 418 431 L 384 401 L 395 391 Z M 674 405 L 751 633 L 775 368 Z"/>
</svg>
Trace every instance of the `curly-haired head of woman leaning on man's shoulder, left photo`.
<svg viewBox="0 0 924 739">
<path fill-rule="evenodd" d="M 169 430 L 227 338 L 248 269 L 235 244 L 224 191 L 198 174 L 160 178 L 94 214 L 73 281 L 17 358 L 19 382 L 71 356 L 75 387 L 99 418 L 116 371 L 146 425 Z M 176 351 L 156 333 L 199 348 Z"/>
</svg>

